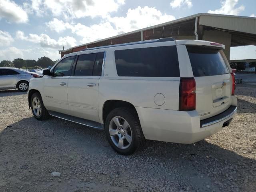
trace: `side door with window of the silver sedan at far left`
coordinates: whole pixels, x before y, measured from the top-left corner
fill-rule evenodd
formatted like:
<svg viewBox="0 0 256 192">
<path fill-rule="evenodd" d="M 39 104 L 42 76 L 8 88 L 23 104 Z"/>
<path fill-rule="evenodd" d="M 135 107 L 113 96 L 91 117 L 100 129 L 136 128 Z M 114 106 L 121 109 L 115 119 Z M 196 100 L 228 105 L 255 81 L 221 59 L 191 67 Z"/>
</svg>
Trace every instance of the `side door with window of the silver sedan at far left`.
<svg viewBox="0 0 256 192">
<path fill-rule="evenodd" d="M 0 69 L 0 88 L 14 88 L 21 74 L 12 69 Z"/>
</svg>

